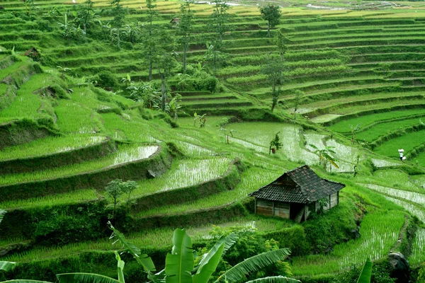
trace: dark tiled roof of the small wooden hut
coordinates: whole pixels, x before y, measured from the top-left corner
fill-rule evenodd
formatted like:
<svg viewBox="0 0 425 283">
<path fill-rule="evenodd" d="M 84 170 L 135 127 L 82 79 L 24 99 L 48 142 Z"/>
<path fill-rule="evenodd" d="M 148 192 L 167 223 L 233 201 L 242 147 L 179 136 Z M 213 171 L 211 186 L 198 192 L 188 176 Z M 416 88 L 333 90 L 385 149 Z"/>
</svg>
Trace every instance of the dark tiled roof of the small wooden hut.
<svg viewBox="0 0 425 283">
<path fill-rule="evenodd" d="M 285 181 L 285 177 L 293 182 Z M 286 172 L 272 183 L 249 195 L 263 200 L 307 204 L 332 195 L 344 187 L 344 184 L 320 178 L 305 165 Z"/>
</svg>

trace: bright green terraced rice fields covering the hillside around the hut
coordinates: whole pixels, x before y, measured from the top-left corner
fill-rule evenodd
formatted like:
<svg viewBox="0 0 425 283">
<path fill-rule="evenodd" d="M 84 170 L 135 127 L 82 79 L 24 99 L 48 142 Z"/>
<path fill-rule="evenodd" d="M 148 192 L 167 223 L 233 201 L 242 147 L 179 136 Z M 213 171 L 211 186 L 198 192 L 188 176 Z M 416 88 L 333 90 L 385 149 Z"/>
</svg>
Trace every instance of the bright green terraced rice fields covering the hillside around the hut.
<svg viewBox="0 0 425 283">
<path fill-rule="evenodd" d="M 206 70 L 205 74 L 209 71 L 209 75 L 216 76 L 220 84 L 214 91 L 182 91 L 175 77 L 169 84 L 173 95 L 181 93 L 180 106 L 184 112 L 179 115 L 186 117 L 171 120 L 162 112 L 143 108 L 143 101 L 129 99 L 125 84 L 128 76 L 133 83 L 149 80 L 142 42 L 130 42 L 123 33 L 123 45 L 118 50 L 115 39 L 97 25 L 91 27 L 94 30 L 89 30 L 87 40 L 64 39 L 63 30 L 57 24 L 64 18 L 55 16 L 52 8 L 56 6 L 58 11 L 67 13 L 68 9 L 73 11 L 78 6 L 71 2 L 39 1 L 35 4 L 37 8 L 30 12 L 16 0 L 2 2 L 5 11 L 0 11 L 0 80 L 3 80 L 0 83 L 0 126 L 30 119 L 40 132 L 48 129 L 49 134 L 56 136 L 25 132 L 23 145 L 1 150 L 0 161 L 61 156 L 69 151 L 89 150 L 107 139 L 118 144 L 118 151 L 69 166 L 4 174 L 0 185 L 52 178 L 61 180 L 70 175 L 115 170 L 125 163 L 137 163 L 151 157 L 161 145 L 164 152 L 158 154 L 164 163 L 168 162 L 166 158 L 171 159 L 166 154 L 173 158 L 169 161 L 170 168 L 166 168 L 163 175 L 150 173 L 149 179 L 137 181 L 131 202 L 155 193 L 220 179 L 229 170 L 229 162 L 240 158 L 246 168 L 238 172 L 239 183 L 232 190 L 182 204 L 130 212 L 136 219 L 190 216 L 205 209 L 238 204 L 246 200 L 249 192 L 270 183 L 283 172 L 308 164 L 325 178 L 360 184 L 358 188 L 348 185 L 341 191 L 341 202 L 352 202 L 349 197 L 357 196 L 356 201 L 370 205 L 370 213 L 361 223 L 360 239 L 340 243 L 328 255 L 294 258 L 294 275 L 340 272 L 353 264 L 361 264 L 367 257 L 385 258 L 397 242 L 405 214 L 425 219 L 424 174 L 410 176 L 402 171 L 405 169 L 402 165 L 412 166 L 409 169 L 419 171 L 415 171 L 417 174 L 425 168 L 425 151 L 421 151 L 424 129 L 420 126 L 425 122 L 425 10 L 414 2 L 388 11 L 352 11 L 351 4 L 346 3 L 334 4 L 344 6 L 345 10 L 312 10 L 307 3 L 298 4 L 302 7 L 283 8 L 282 21 L 271 30 L 271 38 L 267 37 L 266 21 L 256 6 L 232 6 L 229 30 L 223 35 L 220 51 L 225 57 L 214 71 L 211 62 L 205 59 L 208 52 L 205 38 L 214 36 L 206 25 L 211 21 L 209 16 L 213 8 L 208 4 L 193 5 L 195 28 L 187 58 L 192 73 L 188 76 L 194 76 L 193 70 L 199 68 Z M 94 5 L 103 28 L 108 28 L 108 22 L 113 19 L 108 5 L 108 1 L 96 1 Z M 145 5 L 146 2 L 140 0 L 125 1 L 131 12 L 125 20 L 129 26 L 136 21 L 146 21 Z M 176 1 L 158 1 L 154 25 L 169 24 L 179 8 Z M 28 15 L 14 16 L 9 11 L 33 13 L 42 21 L 32 21 Z M 69 19 L 73 19 L 71 13 Z M 172 33 L 173 29 L 168 32 Z M 268 62 L 280 60 L 276 45 L 278 33 L 285 37 L 283 58 L 287 69 L 282 74 L 285 82 L 279 89 L 278 105 L 271 113 L 268 111 L 272 102 L 270 82 L 262 70 Z M 23 71 L 33 64 L 23 56 L 30 47 L 40 51 L 39 63 L 44 65 L 40 67 L 42 73 L 38 73 L 40 70 Z M 3 54 L 3 50 L 7 54 Z M 181 61 L 181 50 L 176 51 L 176 59 Z M 181 72 L 179 68 L 176 67 L 174 73 Z M 159 86 L 157 69 L 154 67 L 153 81 Z M 96 88 L 100 86 L 97 75 L 103 71 L 111 71 L 118 79 L 117 85 L 108 88 L 109 91 Z M 11 81 L 13 76 L 18 79 Z M 16 85 L 15 92 L 7 93 L 12 85 Z M 47 91 L 48 86 L 60 91 Z M 297 90 L 304 93 L 299 101 L 295 96 Z M 296 119 L 293 117 L 295 104 L 298 104 Z M 195 112 L 206 115 L 205 127 L 193 125 Z M 350 141 L 351 127 L 356 125 L 360 128 Z M 276 133 L 283 146 L 277 154 L 269 154 L 270 141 Z M 1 136 L 1 141 L 14 141 L 13 131 L 8 134 L 6 138 Z M 317 151 L 310 144 L 319 150 L 326 146 L 333 149 L 339 169 L 327 166 L 323 170 Z M 414 149 L 418 153 L 401 163 L 397 154 L 401 147 L 406 153 Z M 378 171 L 372 172 L 370 163 L 378 167 Z M 361 169 L 356 179 L 352 177 L 354 166 Z M 400 170 L 379 170 L 395 166 L 400 166 Z M 0 207 L 13 214 L 17 209 L 47 211 L 50 207 L 77 207 L 103 201 L 111 207 L 111 197 L 106 192 L 85 187 L 72 193 L 0 200 Z M 118 198 L 118 202 L 131 210 L 127 196 Z M 231 221 L 222 219 L 227 221 L 225 224 L 219 220 L 211 224 L 255 226 L 259 231 L 277 231 L 293 225 L 290 221 L 253 215 Z M 210 225 L 193 224 L 188 227 L 188 233 L 194 241 L 203 241 L 208 238 L 210 228 Z M 160 248 L 171 244 L 172 230 L 159 227 L 133 231 L 128 238 L 140 246 Z M 22 240 L 1 239 L 0 248 Z M 409 258 L 414 266 L 419 266 L 425 257 L 423 243 L 424 229 L 419 229 Z M 33 247 L 23 253 L 2 256 L 1 260 L 39 264 L 42 260 L 66 258 L 85 251 L 114 249 L 107 239 L 99 238 L 60 248 Z"/>
</svg>

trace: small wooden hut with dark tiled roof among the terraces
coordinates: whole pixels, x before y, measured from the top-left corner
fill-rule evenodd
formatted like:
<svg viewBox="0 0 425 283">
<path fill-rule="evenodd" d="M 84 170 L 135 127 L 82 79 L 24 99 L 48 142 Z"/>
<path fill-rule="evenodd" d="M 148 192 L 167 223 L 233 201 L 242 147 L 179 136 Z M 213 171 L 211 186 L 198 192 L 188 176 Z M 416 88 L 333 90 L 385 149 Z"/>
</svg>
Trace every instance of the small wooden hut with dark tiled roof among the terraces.
<svg viewBox="0 0 425 283">
<path fill-rule="evenodd" d="M 308 219 L 311 212 L 339 204 L 339 191 L 345 185 L 320 178 L 307 165 L 281 175 L 272 183 L 251 192 L 256 214 L 294 219 Z"/>
</svg>

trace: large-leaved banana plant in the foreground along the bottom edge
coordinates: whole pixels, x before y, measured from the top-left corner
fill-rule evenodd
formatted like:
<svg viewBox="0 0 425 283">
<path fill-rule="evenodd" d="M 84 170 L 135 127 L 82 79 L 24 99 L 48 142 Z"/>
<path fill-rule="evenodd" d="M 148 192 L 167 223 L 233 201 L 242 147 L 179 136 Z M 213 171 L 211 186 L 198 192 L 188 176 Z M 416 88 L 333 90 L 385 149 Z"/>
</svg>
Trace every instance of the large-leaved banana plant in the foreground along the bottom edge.
<svg viewBox="0 0 425 283">
<path fill-rule="evenodd" d="M 128 251 L 133 258 L 142 266 L 147 273 L 147 279 L 152 283 L 208 283 L 212 272 L 217 269 L 217 265 L 229 248 L 237 241 L 235 233 L 229 236 L 222 236 L 218 239 L 214 246 L 205 253 L 198 265 L 195 266 L 195 258 L 193 255 L 192 241 L 184 229 L 176 229 L 173 236 L 173 248 L 171 253 L 166 255 L 165 269 L 156 272 L 154 262 L 147 255 L 141 255 L 140 249 L 132 243 L 128 243 L 123 233 L 115 229 L 109 223 L 113 234 L 111 238 L 116 239 L 114 243 L 121 243 L 123 249 Z M 255 255 L 243 262 L 234 265 L 227 270 L 214 283 L 236 283 L 242 282 L 247 274 L 261 270 L 263 267 L 273 264 L 278 260 L 282 260 L 290 254 L 288 248 L 279 250 L 271 250 L 266 253 Z M 118 266 L 118 279 L 106 277 L 104 275 L 96 275 L 91 273 L 64 273 L 56 275 L 59 283 L 125 283 L 124 265 L 118 252 L 115 251 L 115 258 Z M 11 280 L 1 283 L 42 283 L 36 280 Z M 44 282 L 46 283 L 46 282 Z M 248 283 L 300 283 L 296 279 L 287 277 L 265 277 L 249 281 Z"/>
</svg>

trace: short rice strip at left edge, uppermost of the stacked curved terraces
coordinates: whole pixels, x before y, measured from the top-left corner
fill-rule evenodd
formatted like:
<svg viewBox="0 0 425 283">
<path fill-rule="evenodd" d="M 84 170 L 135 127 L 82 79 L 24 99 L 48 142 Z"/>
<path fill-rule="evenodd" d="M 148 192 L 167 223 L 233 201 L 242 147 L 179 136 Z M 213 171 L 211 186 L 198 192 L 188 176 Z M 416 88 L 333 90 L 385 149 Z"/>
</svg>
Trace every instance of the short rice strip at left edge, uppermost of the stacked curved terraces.
<svg viewBox="0 0 425 283">
<path fill-rule="evenodd" d="M 33 158 L 50 154 L 59 154 L 105 141 L 105 137 L 92 135 L 67 135 L 62 137 L 46 137 L 36 139 L 18 146 L 8 146 L 0 151 L 0 161 L 20 158 Z"/>
</svg>

